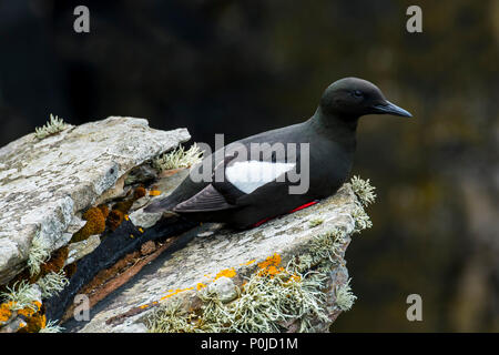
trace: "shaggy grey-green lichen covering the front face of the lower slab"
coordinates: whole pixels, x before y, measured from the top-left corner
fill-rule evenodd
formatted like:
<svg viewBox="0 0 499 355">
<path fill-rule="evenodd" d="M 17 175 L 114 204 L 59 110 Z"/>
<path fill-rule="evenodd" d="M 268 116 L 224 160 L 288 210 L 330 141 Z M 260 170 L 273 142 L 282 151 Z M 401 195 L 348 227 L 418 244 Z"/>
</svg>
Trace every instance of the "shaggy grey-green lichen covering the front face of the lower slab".
<svg viewBox="0 0 499 355">
<path fill-rule="evenodd" d="M 373 203 L 376 195 L 368 181 L 354 176 L 352 184 L 358 197 L 352 212 L 353 232 L 358 233 L 371 226 L 364 206 Z M 320 219 L 310 220 L 309 226 L 322 223 Z M 201 307 L 193 310 L 179 302 L 166 302 L 145 320 L 146 326 L 150 332 L 323 331 L 324 324 L 330 323 L 332 302 L 335 312 L 345 312 L 357 298 L 349 278 L 332 284 L 332 275 L 344 266 L 340 263 L 348 242 L 344 229 L 317 234 L 307 251 L 291 257 L 285 268 L 275 268 L 274 273 L 256 271 L 245 277 L 234 301 L 224 303 L 208 287 L 202 288 L 197 292 Z"/>
</svg>

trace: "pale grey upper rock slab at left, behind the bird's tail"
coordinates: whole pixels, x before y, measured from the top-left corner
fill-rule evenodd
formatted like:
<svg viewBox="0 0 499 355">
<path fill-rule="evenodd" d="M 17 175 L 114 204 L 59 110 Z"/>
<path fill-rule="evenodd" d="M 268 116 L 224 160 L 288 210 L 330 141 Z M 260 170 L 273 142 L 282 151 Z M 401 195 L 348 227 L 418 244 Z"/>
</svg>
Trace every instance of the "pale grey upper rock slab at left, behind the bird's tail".
<svg viewBox="0 0 499 355">
<path fill-rule="evenodd" d="M 0 284 L 26 267 L 37 233 L 48 252 L 64 245 L 77 212 L 133 168 L 189 139 L 185 129 L 165 132 L 144 119 L 111 116 L 1 148 Z"/>
</svg>

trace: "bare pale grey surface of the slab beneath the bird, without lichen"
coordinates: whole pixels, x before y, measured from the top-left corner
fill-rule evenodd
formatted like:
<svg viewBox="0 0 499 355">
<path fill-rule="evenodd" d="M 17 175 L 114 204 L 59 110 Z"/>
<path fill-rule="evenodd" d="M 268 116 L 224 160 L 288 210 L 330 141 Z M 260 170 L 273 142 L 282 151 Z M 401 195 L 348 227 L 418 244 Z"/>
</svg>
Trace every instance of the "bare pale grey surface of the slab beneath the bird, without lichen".
<svg viewBox="0 0 499 355">
<path fill-rule="evenodd" d="M 73 331 L 90 333 L 145 332 L 147 320 L 157 305 L 180 302 L 186 310 L 198 308 L 206 288 L 218 293 L 224 302 L 237 297 L 236 287 L 258 271 L 258 263 L 278 254 L 282 266 L 298 256 L 304 264 L 312 253 L 316 236 L 339 230 L 344 240 L 334 258 L 324 256 L 332 271 L 325 288 L 328 321 L 313 320 L 317 332 L 326 332 L 342 310 L 335 304 L 335 290 L 348 283 L 345 251 L 356 232 L 353 216 L 359 202 L 349 184 L 334 196 L 308 209 L 272 220 L 263 225 L 235 232 L 220 224 L 203 224 L 181 237 L 192 236 L 182 250 L 162 255 L 147 270 L 113 293 L 92 311 L 88 323 L 74 325 Z M 320 217 L 324 222 L 310 227 L 309 221 Z M 313 265 L 305 267 L 306 273 Z M 222 277 L 221 277 L 222 276 Z M 236 302 L 236 301 L 232 301 Z M 315 323 L 314 323 L 315 322 Z M 139 327 L 138 327 L 139 325 Z M 293 320 L 284 324 L 297 331 Z"/>
</svg>

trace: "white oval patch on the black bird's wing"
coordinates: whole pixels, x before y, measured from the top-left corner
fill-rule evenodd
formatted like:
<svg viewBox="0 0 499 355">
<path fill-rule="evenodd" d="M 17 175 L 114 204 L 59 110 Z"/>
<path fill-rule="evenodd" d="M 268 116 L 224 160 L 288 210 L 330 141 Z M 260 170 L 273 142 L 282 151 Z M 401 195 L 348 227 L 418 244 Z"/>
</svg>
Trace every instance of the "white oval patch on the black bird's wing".
<svg viewBox="0 0 499 355">
<path fill-rule="evenodd" d="M 232 163 L 225 169 L 225 176 L 242 192 L 252 193 L 259 186 L 276 180 L 293 168 L 295 168 L 295 164 L 293 163 L 271 163 L 251 160 Z M 282 181 L 284 181 L 284 179 Z"/>
</svg>

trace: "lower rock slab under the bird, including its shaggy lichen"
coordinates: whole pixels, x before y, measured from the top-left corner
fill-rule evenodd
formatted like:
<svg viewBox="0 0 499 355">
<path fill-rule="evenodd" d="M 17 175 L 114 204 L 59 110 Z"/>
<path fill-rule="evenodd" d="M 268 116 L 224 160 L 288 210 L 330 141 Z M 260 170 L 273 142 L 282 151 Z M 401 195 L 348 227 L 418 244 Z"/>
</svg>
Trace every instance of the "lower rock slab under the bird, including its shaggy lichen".
<svg viewBox="0 0 499 355">
<path fill-rule="evenodd" d="M 344 256 L 350 236 L 368 226 L 366 221 L 358 197 L 346 184 L 317 205 L 248 231 L 235 232 L 220 224 L 197 226 L 180 237 L 189 241 L 186 246 L 163 253 L 96 305 L 89 322 L 69 322 L 68 329 L 328 331 L 338 314 L 348 310 L 355 300 L 349 291 Z M 303 293 L 304 298 L 310 298 L 310 303 L 316 302 L 317 310 L 293 314 L 295 311 L 286 311 L 284 306 L 282 312 L 291 312 L 286 315 L 287 322 L 267 320 L 267 326 L 262 328 L 252 327 L 251 317 L 246 320 L 247 324 L 231 328 L 208 314 L 208 308 L 216 304 L 222 307 L 220 314 L 224 314 L 244 307 L 245 303 L 265 303 L 258 300 L 262 295 L 255 294 L 254 290 L 245 290 L 246 285 L 258 282 L 262 290 L 274 295 L 285 292 L 288 284 Z M 274 300 L 283 302 L 278 297 Z M 254 310 L 266 318 L 268 314 L 263 311 Z"/>
</svg>

